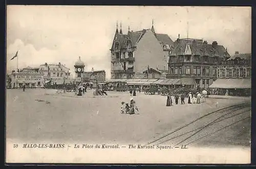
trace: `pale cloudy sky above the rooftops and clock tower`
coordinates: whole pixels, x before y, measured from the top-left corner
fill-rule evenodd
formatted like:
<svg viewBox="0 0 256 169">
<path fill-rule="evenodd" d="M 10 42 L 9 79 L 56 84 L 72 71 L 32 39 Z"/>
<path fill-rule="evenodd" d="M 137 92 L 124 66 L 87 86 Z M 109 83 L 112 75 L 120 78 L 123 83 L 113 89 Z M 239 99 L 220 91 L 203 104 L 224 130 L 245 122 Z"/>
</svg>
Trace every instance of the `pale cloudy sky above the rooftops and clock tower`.
<svg viewBox="0 0 256 169">
<path fill-rule="evenodd" d="M 111 46 L 122 24 L 123 34 L 151 29 L 175 41 L 217 41 L 230 55 L 251 52 L 250 7 L 167 6 L 7 6 L 7 71 L 61 63 L 70 68 L 81 57 L 86 70 L 105 70 L 110 78 Z M 187 24 L 188 22 L 188 24 Z M 135 56 L 136 57 L 136 56 Z"/>
</svg>

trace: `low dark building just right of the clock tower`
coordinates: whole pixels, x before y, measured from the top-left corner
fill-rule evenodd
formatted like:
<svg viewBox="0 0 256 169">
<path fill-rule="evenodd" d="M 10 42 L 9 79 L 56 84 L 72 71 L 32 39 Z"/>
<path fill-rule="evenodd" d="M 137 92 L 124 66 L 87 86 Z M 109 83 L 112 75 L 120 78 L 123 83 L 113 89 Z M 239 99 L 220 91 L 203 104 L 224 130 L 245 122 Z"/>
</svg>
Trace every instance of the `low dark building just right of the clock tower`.
<svg viewBox="0 0 256 169">
<path fill-rule="evenodd" d="M 93 85 L 93 88 L 96 88 L 99 83 L 104 82 L 106 80 L 106 73 L 104 70 L 98 70 L 98 71 L 89 71 L 89 72 L 83 72 L 83 81 L 84 82 L 91 82 Z"/>
</svg>

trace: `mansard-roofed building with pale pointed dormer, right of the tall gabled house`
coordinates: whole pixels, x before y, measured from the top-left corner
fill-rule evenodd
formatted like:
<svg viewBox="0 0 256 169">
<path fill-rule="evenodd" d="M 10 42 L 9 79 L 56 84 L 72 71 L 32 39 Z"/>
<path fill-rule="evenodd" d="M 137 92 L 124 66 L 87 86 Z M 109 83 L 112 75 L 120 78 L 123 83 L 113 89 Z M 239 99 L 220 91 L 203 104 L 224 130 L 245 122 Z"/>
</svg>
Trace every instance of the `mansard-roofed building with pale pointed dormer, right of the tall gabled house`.
<svg viewBox="0 0 256 169">
<path fill-rule="evenodd" d="M 169 54 L 166 77 L 190 78 L 200 88 L 208 88 L 217 79 L 218 63 L 228 58 L 227 49 L 216 41 L 208 44 L 200 39 L 178 38 Z"/>
</svg>

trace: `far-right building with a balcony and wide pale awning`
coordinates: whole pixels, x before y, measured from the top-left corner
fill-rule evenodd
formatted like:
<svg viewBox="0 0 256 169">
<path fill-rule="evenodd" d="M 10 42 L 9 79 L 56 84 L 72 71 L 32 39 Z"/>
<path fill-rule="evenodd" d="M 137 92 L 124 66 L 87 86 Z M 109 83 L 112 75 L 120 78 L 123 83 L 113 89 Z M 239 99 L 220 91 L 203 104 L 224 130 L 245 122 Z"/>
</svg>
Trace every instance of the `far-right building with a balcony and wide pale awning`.
<svg viewBox="0 0 256 169">
<path fill-rule="evenodd" d="M 210 86 L 218 95 L 251 95 L 251 53 L 238 51 L 218 65 L 218 79 Z"/>
</svg>

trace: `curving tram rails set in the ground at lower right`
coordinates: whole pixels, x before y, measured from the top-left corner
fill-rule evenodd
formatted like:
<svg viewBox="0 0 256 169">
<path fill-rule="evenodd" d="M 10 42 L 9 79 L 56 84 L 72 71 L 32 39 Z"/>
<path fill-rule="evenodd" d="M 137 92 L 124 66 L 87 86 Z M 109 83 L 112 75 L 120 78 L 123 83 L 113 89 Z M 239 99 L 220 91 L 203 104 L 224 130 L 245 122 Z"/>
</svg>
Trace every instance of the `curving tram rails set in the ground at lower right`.
<svg viewBox="0 0 256 169">
<path fill-rule="evenodd" d="M 191 145 L 227 127 L 250 118 L 251 103 L 241 103 L 209 112 L 188 124 L 170 131 L 147 145 Z"/>
</svg>

